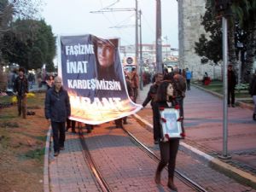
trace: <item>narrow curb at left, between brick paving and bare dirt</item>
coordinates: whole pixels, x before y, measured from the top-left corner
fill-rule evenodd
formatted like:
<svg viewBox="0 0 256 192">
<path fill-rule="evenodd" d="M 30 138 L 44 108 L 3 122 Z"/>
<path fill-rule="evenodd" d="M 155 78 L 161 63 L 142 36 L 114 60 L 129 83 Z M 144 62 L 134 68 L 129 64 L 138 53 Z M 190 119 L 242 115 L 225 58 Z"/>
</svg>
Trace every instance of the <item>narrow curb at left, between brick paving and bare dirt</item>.
<svg viewBox="0 0 256 192">
<path fill-rule="evenodd" d="M 49 145 L 51 137 L 51 127 L 47 131 L 47 138 L 44 149 L 44 192 L 49 192 Z"/>
</svg>

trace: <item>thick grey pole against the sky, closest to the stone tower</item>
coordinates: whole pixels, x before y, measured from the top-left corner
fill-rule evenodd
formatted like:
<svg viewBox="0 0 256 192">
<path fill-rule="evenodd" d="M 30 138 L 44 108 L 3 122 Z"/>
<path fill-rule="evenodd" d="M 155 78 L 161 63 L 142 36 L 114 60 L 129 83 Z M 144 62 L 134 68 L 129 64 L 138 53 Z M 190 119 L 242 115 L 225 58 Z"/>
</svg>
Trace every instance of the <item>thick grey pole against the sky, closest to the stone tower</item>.
<svg viewBox="0 0 256 192">
<path fill-rule="evenodd" d="M 156 37 L 155 37 L 155 64 L 157 73 L 163 73 L 162 67 L 162 27 L 161 27 L 161 1 L 156 0 Z"/>
</svg>

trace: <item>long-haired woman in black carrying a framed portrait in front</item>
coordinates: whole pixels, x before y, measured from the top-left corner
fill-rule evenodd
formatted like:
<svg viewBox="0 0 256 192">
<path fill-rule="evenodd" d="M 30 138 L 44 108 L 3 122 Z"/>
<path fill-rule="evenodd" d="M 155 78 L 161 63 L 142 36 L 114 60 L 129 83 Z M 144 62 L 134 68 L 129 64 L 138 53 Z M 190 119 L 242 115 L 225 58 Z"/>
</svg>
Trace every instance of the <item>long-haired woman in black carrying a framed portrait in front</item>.
<svg viewBox="0 0 256 192">
<path fill-rule="evenodd" d="M 168 183 L 167 186 L 177 191 L 177 187 L 173 183 L 174 170 L 176 165 L 177 149 L 179 146 L 179 139 L 172 138 L 167 141 L 161 138 L 161 125 L 160 125 L 160 109 L 159 108 L 174 108 L 177 102 L 174 100 L 174 86 L 169 81 L 163 81 L 157 90 L 153 103 L 153 116 L 154 116 L 154 132 L 156 138 L 160 141 L 160 163 L 157 166 L 154 181 L 160 184 L 160 173 L 168 164 Z"/>
</svg>

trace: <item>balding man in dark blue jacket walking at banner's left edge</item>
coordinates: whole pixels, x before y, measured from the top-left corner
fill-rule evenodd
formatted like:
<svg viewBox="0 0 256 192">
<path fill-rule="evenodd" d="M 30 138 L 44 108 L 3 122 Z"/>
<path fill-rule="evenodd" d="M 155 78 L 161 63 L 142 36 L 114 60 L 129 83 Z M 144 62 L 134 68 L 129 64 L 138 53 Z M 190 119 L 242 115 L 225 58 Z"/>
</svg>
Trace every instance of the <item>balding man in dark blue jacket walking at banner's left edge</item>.
<svg viewBox="0 0 256 192">
<path fill-rule="evenodd" d="M 44 102 L 45 118 L 51 122 L 54 139 L 55 156 L 64 150 L 65 142 L 65 123 L 70 116 L 70 102 L 67 90 L 61 84 L 61 78 L 55 77 L 52 88 L 47 90 Z M 59 137 L 60 133 L 60 137 Z"/>
</svg>

